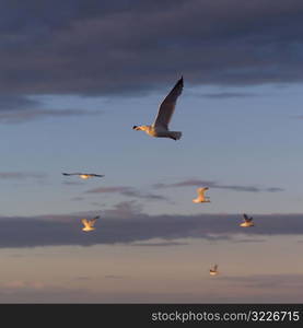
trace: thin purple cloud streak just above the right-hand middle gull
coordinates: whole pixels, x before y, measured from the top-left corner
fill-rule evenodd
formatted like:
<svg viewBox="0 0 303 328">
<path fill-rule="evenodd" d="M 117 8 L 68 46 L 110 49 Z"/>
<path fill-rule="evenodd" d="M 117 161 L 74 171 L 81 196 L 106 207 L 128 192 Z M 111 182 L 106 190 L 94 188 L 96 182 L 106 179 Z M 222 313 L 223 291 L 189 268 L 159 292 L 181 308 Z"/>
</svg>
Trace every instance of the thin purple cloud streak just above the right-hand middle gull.
<svg viewBox="0 0 303 328">
<path fill-rule="evenodd" d="M 215 181 L 210 180 L 200 180 L 200 179 L 187 179 L 183 180 L 180 183 L 174 183 L 174 184 L 155 184 L 153 187 L 155 189 L 162 189 L 162 188 L 180 188 L 180 187 L 209 187 L 209 188 L 217 188 L 217 189 L 230 189 L 234 191 L 247 191 L 247 192 L 279 192 L 284 191 L 282 188 L 278 187 L 267 187 L 267 188 L 260 188 L 256 186 L 237 186 L 237 185 L 220 185 Z"/>
</svg>

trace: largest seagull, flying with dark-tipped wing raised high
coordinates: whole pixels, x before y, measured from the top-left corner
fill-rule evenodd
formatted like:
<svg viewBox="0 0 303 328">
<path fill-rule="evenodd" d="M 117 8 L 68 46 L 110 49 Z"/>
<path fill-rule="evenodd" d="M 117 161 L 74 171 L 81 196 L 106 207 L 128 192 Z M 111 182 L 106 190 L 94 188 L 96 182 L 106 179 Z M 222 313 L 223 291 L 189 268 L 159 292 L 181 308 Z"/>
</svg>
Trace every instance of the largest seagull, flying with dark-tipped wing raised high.
<svg viewBox="0 0 303 328">
<path fill-rule="evenodd" d="M 156 118 L 151 126 L 133 126 L 133 130 L 145 131 L 151 137 L 156 138 L 171 138 L 173 140 L 178 140 L 182 137 L 182 132 L 179 131 L 170 131 L 168 124 L 174 114 L 176 102 L 178 96 L 183 91 L 183 77 L 177 81 L 175 86 L 168 93 L 168 95 L 162 102 Z"/>
</svg>

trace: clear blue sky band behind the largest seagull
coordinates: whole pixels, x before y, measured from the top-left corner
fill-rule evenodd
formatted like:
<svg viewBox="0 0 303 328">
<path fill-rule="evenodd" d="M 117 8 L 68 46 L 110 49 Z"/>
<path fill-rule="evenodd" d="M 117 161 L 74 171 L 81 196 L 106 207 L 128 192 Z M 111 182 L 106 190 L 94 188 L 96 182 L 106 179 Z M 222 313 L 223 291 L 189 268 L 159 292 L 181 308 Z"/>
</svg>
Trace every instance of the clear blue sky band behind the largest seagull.
<svg viewBox="0 0 303 328">
<path fill-rule="evenodd" d="M 2 215 L 22 215 L 24 207 L 27 215 L 49 214 L 54 210 L 56 213 L 77 212 L 90 210 L 92 201 L 101 203 L 102 209 L 129 198 L 85 192 L 113 186 L 128 186 L 167 197 L 170 202 L 142 203 L 154 214 L 199 213 L 201 209 L 212 213 L 301 212 L 302 192 L 298 180 L 302 161 L 298 149 L 303 124 L 300 85 L 190 87 L 185 78 L 184 93 L 172 120 L 172 128 L 183 131 L 182 140 L 152 139 L 133 131 L 132 125 L 153 121 L 170 87 L 162 94 L 112 99 L 39 96 L 46 108 L 84 108 L 91 115 L 2 124 L 2 138 L 5 136 L 10 142 L 1 145 L 1 171 L 42 175 L 22 180 L 2 179 L 5 186 Z M 61 176 L 62 172 L 79 171 L 105 177 L 82 183 Z M 178 190 L 155 190 L 153 187 L 159 183 L 186 179 L 254 186 L 260 191 L 210 188 L 208 194 L 215 201 L 195 206 L 191 199 L 196 187 Z M 266 188 L 281 190 L 261 191 Z M 71 201 L 74 197 L 85 199 Z M 15 202 L 20 206 L 13 206 Z"/>
</svg>

